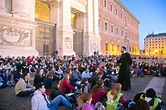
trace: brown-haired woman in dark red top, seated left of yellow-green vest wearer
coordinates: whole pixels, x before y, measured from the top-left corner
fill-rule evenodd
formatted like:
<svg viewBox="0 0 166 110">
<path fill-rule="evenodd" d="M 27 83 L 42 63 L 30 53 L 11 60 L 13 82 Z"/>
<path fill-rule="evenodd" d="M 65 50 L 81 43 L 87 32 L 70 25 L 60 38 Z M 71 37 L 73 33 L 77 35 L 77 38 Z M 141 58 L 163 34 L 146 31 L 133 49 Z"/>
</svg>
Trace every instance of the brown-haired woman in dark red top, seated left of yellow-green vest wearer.
<svg viewBox="0 0 166 110">
<path fill-rule="evenodd" d="M 97 102 L 104 102 L 107 90 L 103 88 L 104 81 L 102 79 L 96 82 L 96 85 L 92 88 L 92 104 L 95 105 Z"/>
</svg>

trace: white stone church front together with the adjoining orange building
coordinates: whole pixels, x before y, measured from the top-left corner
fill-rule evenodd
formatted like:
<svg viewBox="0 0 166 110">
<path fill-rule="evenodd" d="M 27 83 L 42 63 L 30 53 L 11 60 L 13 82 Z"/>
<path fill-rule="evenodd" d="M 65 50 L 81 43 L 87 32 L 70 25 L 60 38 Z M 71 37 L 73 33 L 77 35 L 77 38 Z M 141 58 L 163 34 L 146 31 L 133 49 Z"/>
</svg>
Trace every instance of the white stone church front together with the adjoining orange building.
<svg viewBox="0 0 166 110">
<path fill-rule="evenodd" d="M 138 24 L 119 0 L 0 0 L 0 54 L 137 54 Z"/>
</svg>

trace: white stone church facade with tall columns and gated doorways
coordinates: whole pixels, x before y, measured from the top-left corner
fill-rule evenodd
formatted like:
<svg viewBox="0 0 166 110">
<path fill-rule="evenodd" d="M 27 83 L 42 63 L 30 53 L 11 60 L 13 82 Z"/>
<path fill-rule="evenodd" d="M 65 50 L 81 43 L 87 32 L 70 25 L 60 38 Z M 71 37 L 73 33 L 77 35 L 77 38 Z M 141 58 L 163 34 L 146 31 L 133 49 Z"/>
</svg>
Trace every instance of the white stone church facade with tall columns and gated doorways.
<svg viewBox="0 0 166 110">
<path fill-rule="evenodd" d="M 1 0 L 2 56 L 105 54 L 96 0 Z"/>
</svg>

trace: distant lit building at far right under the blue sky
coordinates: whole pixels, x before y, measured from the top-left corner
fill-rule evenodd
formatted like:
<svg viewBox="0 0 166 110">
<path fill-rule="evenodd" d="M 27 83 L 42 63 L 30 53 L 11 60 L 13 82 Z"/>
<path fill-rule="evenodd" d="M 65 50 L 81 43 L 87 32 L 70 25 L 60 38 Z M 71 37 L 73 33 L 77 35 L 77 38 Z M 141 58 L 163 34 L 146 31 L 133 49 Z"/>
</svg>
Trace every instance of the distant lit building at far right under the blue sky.
<svg viewBox="0 0 166 110">
<path fill-rule="evenodd" d="M 144 44 L 146 55 L 166 55 L 166 33 L 149 34 Z"/>
</svg>

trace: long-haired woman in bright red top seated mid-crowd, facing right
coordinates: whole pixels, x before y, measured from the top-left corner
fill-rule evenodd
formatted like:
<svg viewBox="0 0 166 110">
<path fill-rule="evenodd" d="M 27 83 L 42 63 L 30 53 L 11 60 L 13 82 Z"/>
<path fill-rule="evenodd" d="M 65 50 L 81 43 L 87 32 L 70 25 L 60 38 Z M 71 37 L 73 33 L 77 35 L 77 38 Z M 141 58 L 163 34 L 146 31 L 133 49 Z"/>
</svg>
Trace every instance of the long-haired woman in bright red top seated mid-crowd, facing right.
<svg viewBox="0 0 166 110">
<path fill-rule="evenodd" d="M 77 87 L 74 87 L 69 82 L 69 74 L 65 74 L 63 79 L 60 81 L 60 90 L 63 93 L 70 93 L 71 90 L 76 90 Z"/>
</svg>

